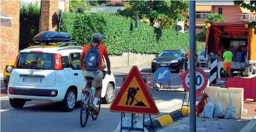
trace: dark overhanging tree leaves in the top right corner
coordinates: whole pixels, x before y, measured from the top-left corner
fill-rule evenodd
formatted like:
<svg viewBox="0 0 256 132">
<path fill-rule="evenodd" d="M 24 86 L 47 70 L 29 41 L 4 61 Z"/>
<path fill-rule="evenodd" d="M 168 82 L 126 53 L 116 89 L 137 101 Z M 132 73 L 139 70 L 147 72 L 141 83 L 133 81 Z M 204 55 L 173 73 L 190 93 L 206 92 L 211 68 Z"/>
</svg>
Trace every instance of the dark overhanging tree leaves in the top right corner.
<svg viewBox="0 0 256 132">
<path fill-rule="evenodd" d="M 256 1 L 250 1 L 249 3 L 246 3 L 245 1 L 233 1 L 235 5 L 240 5 L 241 7 L 245 9 L 249 9 L 251 13 L 256 12 Z M 248 28 L 253 28 L 254 34 L 256 34 L 256 22 L 249 22 Z"/>
</svg>

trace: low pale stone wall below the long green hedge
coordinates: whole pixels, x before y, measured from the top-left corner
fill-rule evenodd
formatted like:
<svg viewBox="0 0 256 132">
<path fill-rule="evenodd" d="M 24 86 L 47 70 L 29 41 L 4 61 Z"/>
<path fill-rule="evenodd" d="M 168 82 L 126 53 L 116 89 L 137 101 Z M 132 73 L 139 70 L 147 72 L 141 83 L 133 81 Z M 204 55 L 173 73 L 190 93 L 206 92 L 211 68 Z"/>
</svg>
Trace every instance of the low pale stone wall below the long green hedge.
<svg viewBox="0 0 256 132">
<path fill-rule="evenodd" d="M 110 55 L 111 67 L 123 67 L 128 65 L 148 65 L 156 55 L 142 53 L 123 53 L 122 55 Z"/>
</svg>

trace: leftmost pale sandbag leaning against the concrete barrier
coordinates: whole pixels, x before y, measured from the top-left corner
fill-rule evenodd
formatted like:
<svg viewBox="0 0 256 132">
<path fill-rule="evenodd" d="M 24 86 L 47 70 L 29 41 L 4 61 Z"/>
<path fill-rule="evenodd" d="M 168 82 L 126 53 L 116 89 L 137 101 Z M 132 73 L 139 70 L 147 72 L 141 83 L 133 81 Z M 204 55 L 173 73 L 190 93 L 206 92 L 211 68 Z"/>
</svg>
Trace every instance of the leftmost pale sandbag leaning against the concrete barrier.
<svg viewBox="0 0 256 132">
<path fill-rule="evenodd" d="M 203 111 L 204 112 L 201 113 L 200 117 L 213 119 L 214 106 L 210 97 L 209 102 L 204 106 Z"/>
</svg>

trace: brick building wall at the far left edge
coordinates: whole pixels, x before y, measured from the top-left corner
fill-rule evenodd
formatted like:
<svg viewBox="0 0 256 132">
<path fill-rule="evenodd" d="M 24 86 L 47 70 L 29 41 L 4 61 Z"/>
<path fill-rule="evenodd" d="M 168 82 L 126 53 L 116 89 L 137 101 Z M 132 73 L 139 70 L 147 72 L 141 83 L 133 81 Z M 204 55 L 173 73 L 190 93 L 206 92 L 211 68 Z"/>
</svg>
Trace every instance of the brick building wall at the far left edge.
<svg viewBox="0 0 256 132">
<path fill-rule="evenodd" d="M 1 74 L 5 65 L 15 61 L 19 53 L 20 4 L 19 0 L 1 0 Z"/>
</svg>

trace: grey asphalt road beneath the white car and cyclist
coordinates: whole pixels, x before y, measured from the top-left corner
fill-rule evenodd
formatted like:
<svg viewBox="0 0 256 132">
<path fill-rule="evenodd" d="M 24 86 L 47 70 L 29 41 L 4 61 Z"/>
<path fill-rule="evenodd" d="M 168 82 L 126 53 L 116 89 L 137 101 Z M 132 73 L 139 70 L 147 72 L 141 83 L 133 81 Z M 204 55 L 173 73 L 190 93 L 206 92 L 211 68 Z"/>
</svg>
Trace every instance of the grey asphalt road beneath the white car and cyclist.
<svg viewBox="0 0 256 132">
<path fill-rule="evenodd" d="M 144 69 L 144 71 L 147 69 Z M 148 73 L 143 74 L 148 75 Z M 116 85 L 118 92 L 121 84 L 122 77 L 126 75 L 116 75 Z M 172 74 L 176 84 L 178 73 Z M 154 79 L 154 78 L 153 78 Z M 175 79 L 177 81 L 175 81 Z M 179 81 L 180 82 L 180 81 Z M 3 90 L 1 90 L 2 92 Z M 150 91 L 152 92 L 151 88 Z M 182 90 L 181 90 L 182 91 Z M 152 97 L 154 98 L 160 114 L 165 112 L 172 112 L 181 108 L 184 92 L 181 91 L 154 91 Z M 114 131 L 120 122 L 120 113 L 110 112 L 110 104 L 102 104 L 100 115 L 96 121 L 88 120 L 86 127 L 80 127 L 80 107 L 77 106 L 73 112 L 61 112 L 59 105 L 56 102 L 46 101 L 31 101 L 26 102 L 24 108 L 14 109 L 9 104 L 9 98 L 1 97 L 1 132 L 76 132 L 76 131 Z M 130 116 L 130 114 L 126 114 Z M 152 116 L 155 117 L 155 116 Z M 146 116 L 146 120 L 149 119 Z"/>
</svg>

